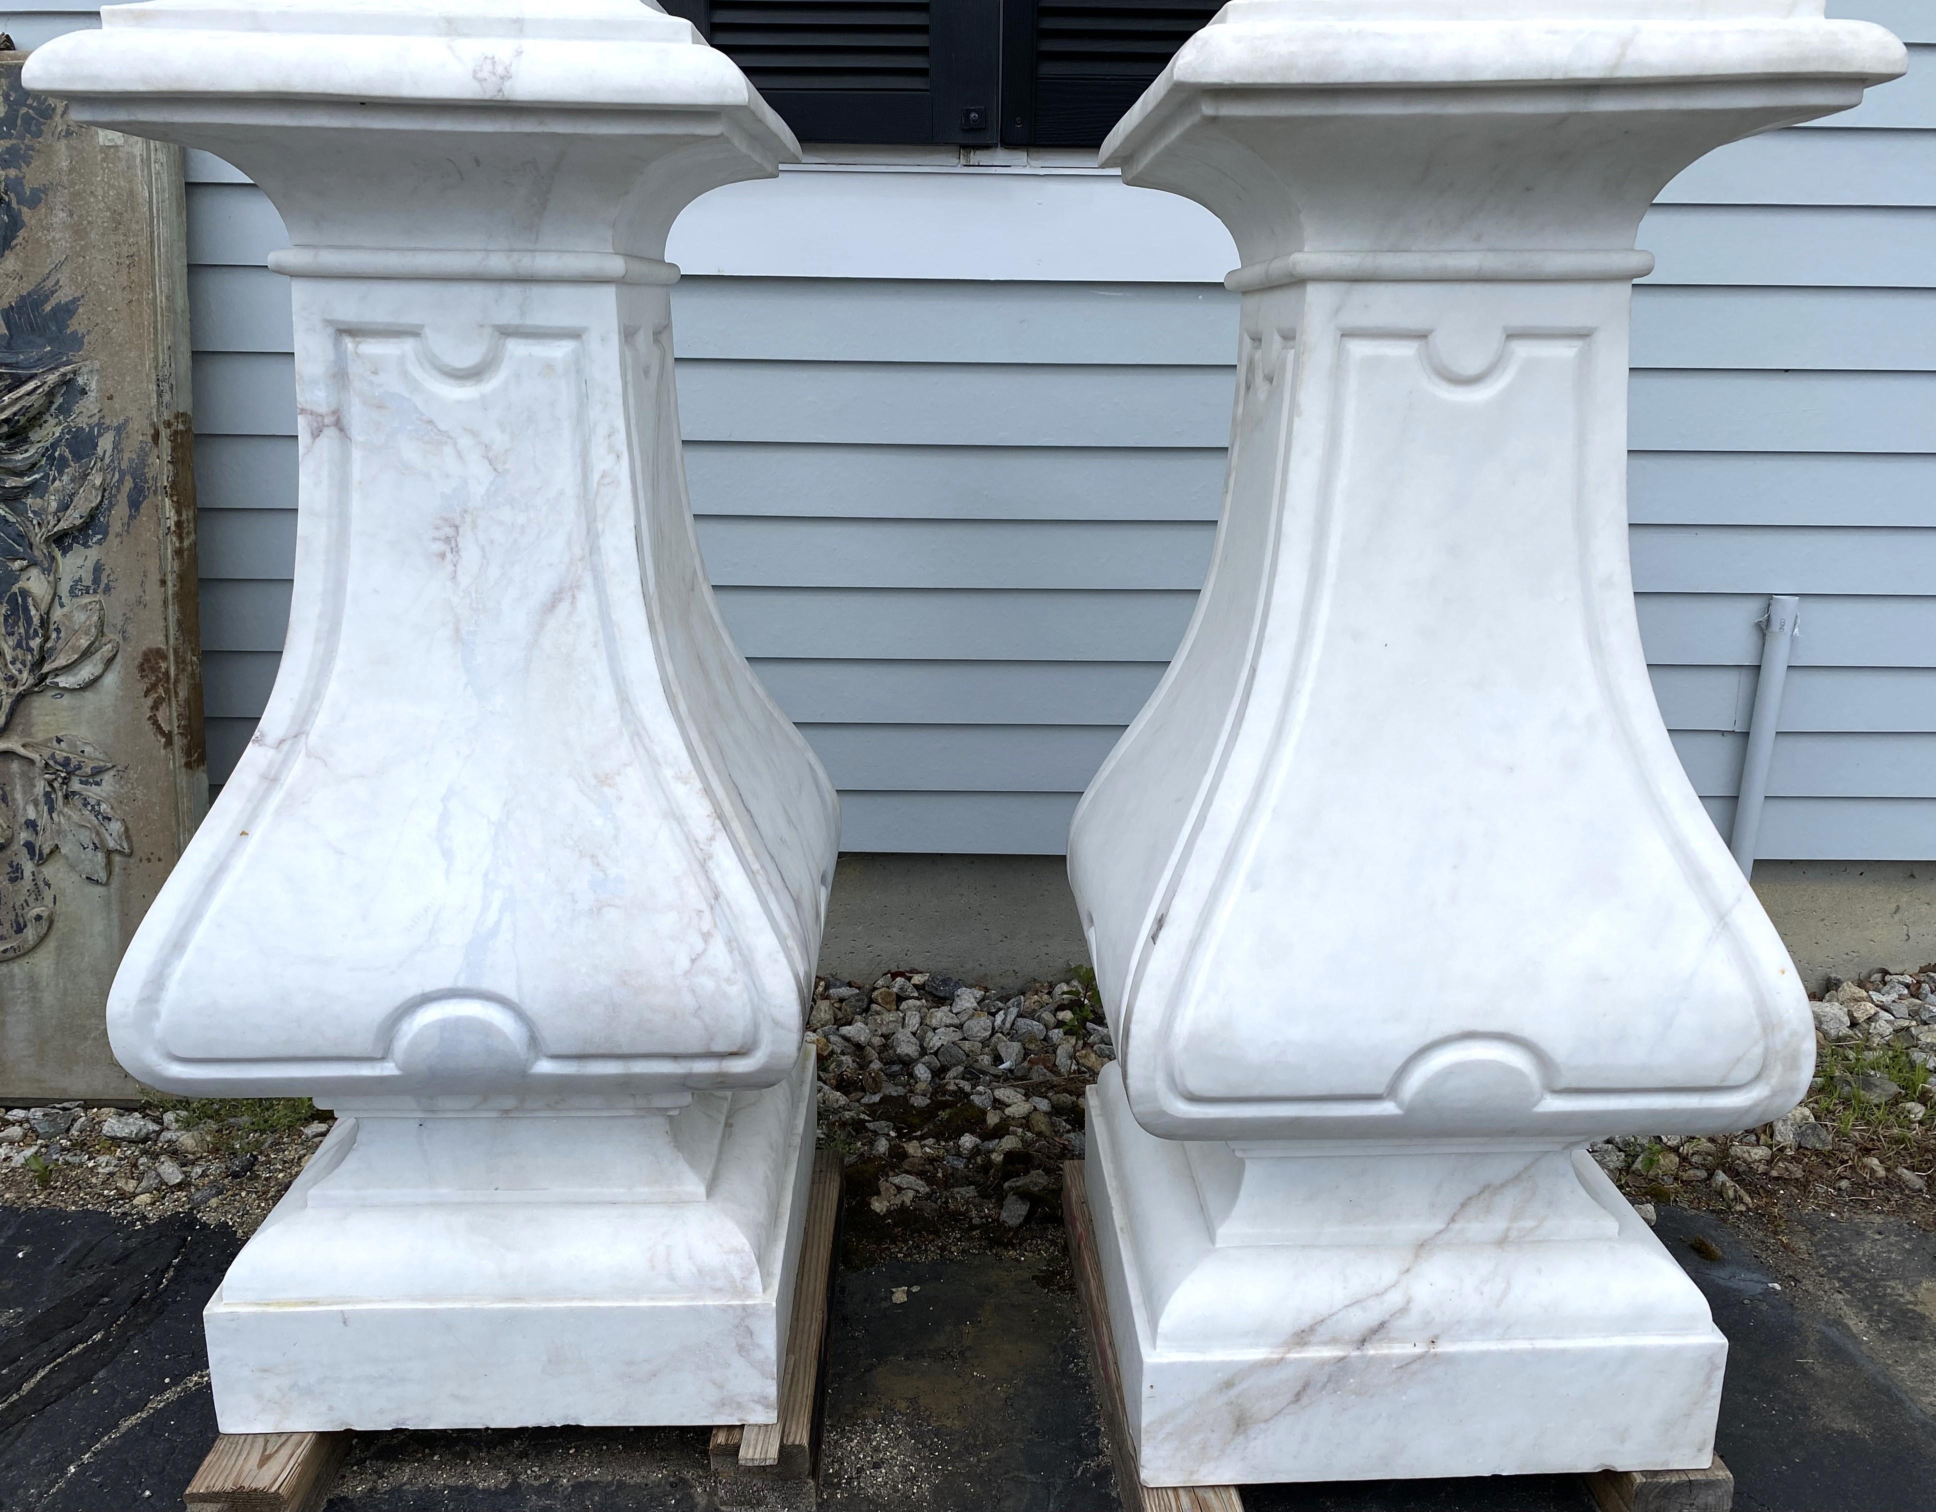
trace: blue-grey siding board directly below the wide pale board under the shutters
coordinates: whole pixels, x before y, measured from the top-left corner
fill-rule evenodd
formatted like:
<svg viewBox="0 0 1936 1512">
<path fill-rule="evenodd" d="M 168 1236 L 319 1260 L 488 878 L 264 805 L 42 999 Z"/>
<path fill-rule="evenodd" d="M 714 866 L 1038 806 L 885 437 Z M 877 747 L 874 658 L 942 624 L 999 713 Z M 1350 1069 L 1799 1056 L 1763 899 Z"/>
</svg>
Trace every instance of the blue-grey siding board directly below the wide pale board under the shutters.
<svg viewBox="0 0 1936 1512">
<path fill-rule="evenodd" d="M 1936 147 L 1932 147 L 1936 151 Z M 288 281 L 194 267 L 196 350 L 288 352 Z M 1224 366 L 1237 296 L 1214 285 L 685 279 L 681 360 Z M 1642 285 L 1636 368 L 1936 370 L 1936 290 Z"/>
</svg>

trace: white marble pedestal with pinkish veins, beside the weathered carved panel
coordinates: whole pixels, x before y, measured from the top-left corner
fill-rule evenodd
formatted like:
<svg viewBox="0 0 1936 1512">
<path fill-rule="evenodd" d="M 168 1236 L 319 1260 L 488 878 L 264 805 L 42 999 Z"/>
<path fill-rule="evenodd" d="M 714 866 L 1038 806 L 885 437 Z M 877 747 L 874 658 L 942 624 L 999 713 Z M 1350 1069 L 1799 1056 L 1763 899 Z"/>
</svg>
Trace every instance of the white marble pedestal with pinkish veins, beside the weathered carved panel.
<svg viewBox="0 0 1936 1512">
<path fill-rule="evenodd" d="M 836 803 L 685 501 L 666 230 L 784 124 L 639 0 L 114 6 L 33 87 L 290 248 L 288 643 L 114 1051 L 343 1117 L 207 1311 L 225 1433 L 763 1423 Z"/>
</svg>

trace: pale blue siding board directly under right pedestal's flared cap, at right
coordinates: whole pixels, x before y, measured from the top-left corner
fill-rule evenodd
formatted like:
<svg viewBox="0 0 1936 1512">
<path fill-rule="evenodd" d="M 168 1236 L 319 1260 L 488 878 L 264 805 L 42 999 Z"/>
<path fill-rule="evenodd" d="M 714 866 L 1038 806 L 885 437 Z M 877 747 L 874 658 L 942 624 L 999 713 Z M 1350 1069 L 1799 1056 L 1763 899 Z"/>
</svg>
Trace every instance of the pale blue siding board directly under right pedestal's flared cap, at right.
<svg viewBox="0 0 1936 1512">
<path fill-rule="evenodd" d="M 1936 205 L 1926 132 L 1766 132 L 1684 168 L 1663 205 Z"/>
</svg>

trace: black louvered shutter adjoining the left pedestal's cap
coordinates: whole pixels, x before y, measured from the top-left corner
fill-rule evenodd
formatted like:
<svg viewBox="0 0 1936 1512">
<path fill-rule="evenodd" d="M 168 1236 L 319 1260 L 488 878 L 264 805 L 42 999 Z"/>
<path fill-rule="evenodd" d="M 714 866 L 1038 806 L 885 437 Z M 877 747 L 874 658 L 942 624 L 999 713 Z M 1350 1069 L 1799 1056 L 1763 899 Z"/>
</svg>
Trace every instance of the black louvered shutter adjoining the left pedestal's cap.
<svg viewBox="0 0 1936 1512">
<path fill-rule="evenodd" d="M 995 141 L 1001 0 L 662 0 L 802 141 Z"/>
</svg>

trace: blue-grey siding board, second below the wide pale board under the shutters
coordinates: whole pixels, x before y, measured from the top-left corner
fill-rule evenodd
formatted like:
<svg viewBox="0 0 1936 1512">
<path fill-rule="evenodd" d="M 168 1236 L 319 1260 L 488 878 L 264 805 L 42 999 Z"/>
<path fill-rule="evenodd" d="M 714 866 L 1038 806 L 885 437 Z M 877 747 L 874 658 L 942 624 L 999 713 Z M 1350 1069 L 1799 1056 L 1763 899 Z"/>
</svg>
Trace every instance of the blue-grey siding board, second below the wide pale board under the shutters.
<svg viewBox="0 0 1936 1512">
<path fill-rule="evenodd" d="M 699 441 L 1220 447 L 1222 368 L 681 362 L 681 430 Z M 196 428 L 294 436 L 287 356 L 196 362 Z M 1638 451 L 1936 453 L 1936 374 L 1636 372 Z"/>
</svg>

